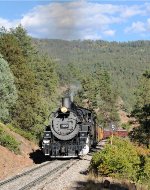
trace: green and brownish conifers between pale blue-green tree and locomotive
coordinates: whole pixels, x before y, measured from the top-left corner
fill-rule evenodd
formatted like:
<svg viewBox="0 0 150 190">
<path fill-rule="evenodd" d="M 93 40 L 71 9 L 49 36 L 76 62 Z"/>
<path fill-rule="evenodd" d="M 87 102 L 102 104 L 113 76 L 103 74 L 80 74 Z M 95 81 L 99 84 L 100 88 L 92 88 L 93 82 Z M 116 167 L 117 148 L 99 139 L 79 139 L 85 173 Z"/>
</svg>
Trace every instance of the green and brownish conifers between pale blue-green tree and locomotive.
<svg viewBox="0 0 150 190">
<path fill-rule="evenodd" d="M 39 136 L 57 99 L 55 64 L 48 57 L 38 56 L 21 26 L 10 32 L 1 30 L 0 52 L 9 63 L 18 90 L 11 110 L 12 124 Z"/>
</svg>

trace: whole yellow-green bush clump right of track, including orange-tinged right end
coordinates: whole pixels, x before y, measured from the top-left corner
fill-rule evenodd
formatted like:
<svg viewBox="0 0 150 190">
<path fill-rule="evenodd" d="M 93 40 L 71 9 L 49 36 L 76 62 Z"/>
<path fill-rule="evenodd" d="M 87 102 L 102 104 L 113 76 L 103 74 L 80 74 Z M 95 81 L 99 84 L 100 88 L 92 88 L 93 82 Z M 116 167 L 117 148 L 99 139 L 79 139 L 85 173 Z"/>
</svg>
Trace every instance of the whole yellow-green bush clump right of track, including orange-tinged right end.
<svg viewBox="0 0 150 190">
<path fill-rule="evenodd" d="M 114 137 L 113 145 L 93 155 L 90 171 L 97 176 L 128 179 L 150 187 L 150 150 Z"/>
</svg>

